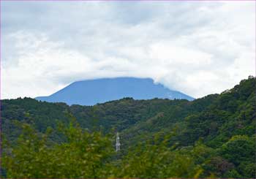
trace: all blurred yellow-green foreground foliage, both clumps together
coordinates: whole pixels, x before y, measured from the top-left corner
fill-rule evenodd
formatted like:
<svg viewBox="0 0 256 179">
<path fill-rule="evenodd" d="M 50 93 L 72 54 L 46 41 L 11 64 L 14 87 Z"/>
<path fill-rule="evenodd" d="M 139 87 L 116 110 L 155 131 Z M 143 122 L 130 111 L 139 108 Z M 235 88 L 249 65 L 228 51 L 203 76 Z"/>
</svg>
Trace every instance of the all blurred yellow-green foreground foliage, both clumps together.
<svg viewBox="0 0 256 179">
<path fill-rule="evenodd" d="M 78 123 L 61 129 L 67 142 L 48 141 L 23 124 L 23 133 L 10 151 L 4 152 L 7 178 L 197 178 L 202 169 L 191 155 L 167 147 L 167 139 L 139 145 L 113 161 L 110 136 L 85 132 Z"/>
</svg>

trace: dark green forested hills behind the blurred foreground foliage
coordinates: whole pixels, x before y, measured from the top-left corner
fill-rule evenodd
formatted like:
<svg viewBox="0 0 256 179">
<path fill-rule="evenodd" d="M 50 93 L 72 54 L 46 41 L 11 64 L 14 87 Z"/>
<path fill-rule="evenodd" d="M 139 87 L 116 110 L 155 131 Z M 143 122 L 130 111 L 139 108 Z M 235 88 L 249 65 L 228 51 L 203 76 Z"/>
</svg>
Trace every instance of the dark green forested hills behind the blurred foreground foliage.
<svg viewBox="0 0 256 179">
<path fill-rule="evenodd" d="M 249 77 L 222 94 L 192 102 L 124 98 L 88 107 L 29 98 L 2 100 L 2 128 L 7 139 L 15 141 L 20 134 L 17 122 L 30 123 L 37 132 L 51 126 L 51 139 L 59 143 L 63 139 L 57 123 L 69 123 L 67 114 L 71 114 L 83 129 L 106 133 L 116 129 L 123 153 L 159 133 L 172 134 L 169 143 L 176 146 L 174 150 L 200 153 L 195 161 L 203 166 L 201 178 L 212 174 L 215 178 L 255 178 L 255 89 L 256 79 Z"/>
</svg>

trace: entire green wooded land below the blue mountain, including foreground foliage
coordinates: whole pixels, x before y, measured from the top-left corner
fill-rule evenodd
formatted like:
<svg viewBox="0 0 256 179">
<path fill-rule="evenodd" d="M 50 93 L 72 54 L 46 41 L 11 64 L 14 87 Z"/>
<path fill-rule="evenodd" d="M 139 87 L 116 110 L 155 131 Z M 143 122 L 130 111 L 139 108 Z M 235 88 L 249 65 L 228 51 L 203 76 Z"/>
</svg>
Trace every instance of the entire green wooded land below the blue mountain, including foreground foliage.
<svg viewBox="0 0 256 179">
<path fill-rule="evenodd" d="M 69 106 L 1 100 L 3 175 L 255 178 L 255 102 L 255 77 L 192 102 L 124 98 Z M 118 153 L 113 151 L 116 132 Z"/>
</svg>

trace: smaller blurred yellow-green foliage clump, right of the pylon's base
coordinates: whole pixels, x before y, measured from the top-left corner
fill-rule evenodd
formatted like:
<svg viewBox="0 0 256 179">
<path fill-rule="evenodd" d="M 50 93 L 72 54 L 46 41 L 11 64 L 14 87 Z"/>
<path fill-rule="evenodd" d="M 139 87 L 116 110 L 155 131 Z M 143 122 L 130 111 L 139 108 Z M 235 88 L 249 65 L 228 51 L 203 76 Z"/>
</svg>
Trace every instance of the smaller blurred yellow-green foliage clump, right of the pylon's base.
<svg viewBox="0 0 256 179">
<path fill-rule="evenodd" d="M 202 169 L 192 155 L 174 151 L 166 138 L 156 137 L 146 145 L 140 144 L 124 156 L 118 178 L 197 178 Z"/>
</svg>

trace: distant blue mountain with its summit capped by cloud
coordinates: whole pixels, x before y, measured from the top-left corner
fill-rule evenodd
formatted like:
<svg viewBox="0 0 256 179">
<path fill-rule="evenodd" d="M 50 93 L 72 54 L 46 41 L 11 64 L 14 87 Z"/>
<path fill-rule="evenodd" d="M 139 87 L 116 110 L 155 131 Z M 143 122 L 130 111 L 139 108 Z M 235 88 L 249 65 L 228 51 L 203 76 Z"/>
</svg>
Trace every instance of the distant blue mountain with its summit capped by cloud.
<svg viewBox="0 0 256 179">
<path fill-rule="evenodd" d="M 133 99 L 188 99 L 194 98 L 155 84 L 150 78 L 117 77 L 97 80 L 83 80 L 72 83 L 50 96 L 40 96 L 45 102 L 65 102 L 67 104 L 94 105 L 131 97 Z"/>
</svg>

